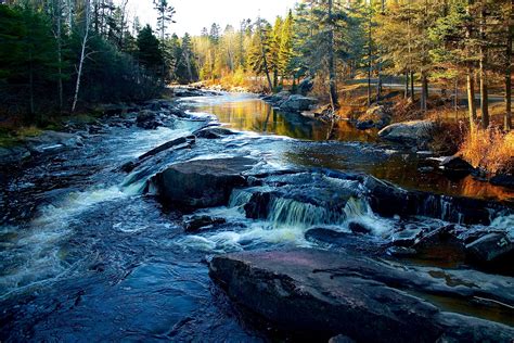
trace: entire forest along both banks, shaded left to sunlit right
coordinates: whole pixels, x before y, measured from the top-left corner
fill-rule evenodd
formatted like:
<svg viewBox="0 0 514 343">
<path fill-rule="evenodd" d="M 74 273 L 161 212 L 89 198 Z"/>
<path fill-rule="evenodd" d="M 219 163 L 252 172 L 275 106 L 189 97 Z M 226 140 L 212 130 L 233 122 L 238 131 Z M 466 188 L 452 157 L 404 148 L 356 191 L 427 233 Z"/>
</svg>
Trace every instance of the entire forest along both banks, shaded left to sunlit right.
<svg viewBox="0 0 514 343">
<path fill-rule="evenodd" d="M 384 85 L 394 84 L 403 85 L 402 97 L 394 101 L 409 101 L 400 111 L 410 112 L 408 118 L 455 113 L 465 122 L 450 128 L 460 132 L 444 143 L 465 145 L 468 160 L 488 164 L 473 156 L 484 145 L 479 137 L 501 147 L 500 160 L 507 163 L 509 0 L 306 0 L 272 23 L 256 15 L 237 27 L 214 23 L 200 36 L 183 37 L 169 34 L 175 9 L 168 1 L 154 1 L 154 27 L 130 17 L 127 3 L 12 0 L 2 5 L 0 111 L 11 123 L 3 126 L 44 125 L 94 103 L 151 99 L 165 85 L 196 81 L 277 93 L 296 92 L 308 79 L 313 96 L 340 116 L 351 116 L 345 105 L 357 102 L 365 111 L 389 98 Z M 363 94 L 348 87 L 356 80 L 364 84 Z M 434 109 L 431 97 L 446 105 Z M 470 136 L 474 128 L 481 131 Z M 484 147 L 480 151 L 488 154 Z"/>
</svg>

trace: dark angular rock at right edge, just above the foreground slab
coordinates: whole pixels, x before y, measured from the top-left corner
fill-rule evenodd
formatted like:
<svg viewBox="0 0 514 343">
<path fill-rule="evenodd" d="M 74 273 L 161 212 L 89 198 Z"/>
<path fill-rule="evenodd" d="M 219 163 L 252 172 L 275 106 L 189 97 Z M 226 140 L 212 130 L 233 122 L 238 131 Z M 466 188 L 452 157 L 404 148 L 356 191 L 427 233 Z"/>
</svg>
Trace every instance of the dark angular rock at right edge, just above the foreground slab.
<svg viewBox="0 0 514 343">
<path fill-rule="evenodd" d="M 514 253 L 514 242 L 506 233 L 489 233 L 465 249 L 478 262 L 491 262 Z"/>
</svg>

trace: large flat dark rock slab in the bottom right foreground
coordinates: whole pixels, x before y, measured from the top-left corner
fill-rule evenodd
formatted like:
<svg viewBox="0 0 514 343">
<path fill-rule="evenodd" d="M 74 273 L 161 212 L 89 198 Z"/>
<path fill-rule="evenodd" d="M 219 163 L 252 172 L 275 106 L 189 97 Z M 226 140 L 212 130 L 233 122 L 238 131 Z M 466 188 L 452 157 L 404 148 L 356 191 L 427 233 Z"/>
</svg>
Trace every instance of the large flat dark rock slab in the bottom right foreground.
<svg viewBox="0 0 514 343">
<path fill-rule="evenodd" d="M 514 336 L 509 326 L 442 312 L 419 295 L 480 296 L 507 308 L 514 297 L 510 278 L 319 250 L 217 256 L 210 276 L 245 308 L 304 339 L 511 342 Z"/>
</svg>

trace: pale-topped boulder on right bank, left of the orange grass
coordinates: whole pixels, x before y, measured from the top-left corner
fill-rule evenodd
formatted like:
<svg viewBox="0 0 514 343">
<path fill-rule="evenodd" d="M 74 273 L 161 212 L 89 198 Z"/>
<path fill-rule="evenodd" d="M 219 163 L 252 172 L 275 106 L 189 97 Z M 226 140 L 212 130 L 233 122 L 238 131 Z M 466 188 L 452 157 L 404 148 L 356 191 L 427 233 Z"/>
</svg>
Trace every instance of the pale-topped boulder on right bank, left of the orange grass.
<svg viewBox="0 0 514 343">
<path fill-rule="evenodd" d="M 426 149 L 433 139 L 436 124 L 432 120 L 412 120 L 391 124 L 383 128 L 378 136 L 385 140 Z"/>
</svg>

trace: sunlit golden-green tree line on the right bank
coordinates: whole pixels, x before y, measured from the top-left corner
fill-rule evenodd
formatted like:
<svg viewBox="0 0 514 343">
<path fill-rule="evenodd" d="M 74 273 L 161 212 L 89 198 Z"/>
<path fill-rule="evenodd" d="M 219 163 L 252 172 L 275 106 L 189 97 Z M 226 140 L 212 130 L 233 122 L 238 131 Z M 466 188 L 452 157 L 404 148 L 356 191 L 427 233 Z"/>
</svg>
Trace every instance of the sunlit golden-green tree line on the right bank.
<svg viewBox="0 0 514 343">
<path fill-rule="evenodd" d="M 385 75 L 401 76 L 404 97 L 422 111 L 431 82 L 465 84 L 472 127 L 489 127 L 489 90 L 503 79 L 510 130 L 513 26 L 511 0 L 303 0 L 274 23 L 244 20 L 223 31 L 213 24 L 193 47 L 201 79 L 257 75 L 277 91 L 311 77 L 334 109 L 337 85 L 357 76 L 368 78 L 369 104 L 383 96 Z"/>
</svg>

